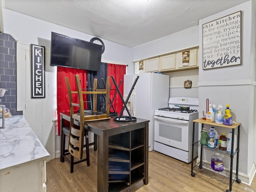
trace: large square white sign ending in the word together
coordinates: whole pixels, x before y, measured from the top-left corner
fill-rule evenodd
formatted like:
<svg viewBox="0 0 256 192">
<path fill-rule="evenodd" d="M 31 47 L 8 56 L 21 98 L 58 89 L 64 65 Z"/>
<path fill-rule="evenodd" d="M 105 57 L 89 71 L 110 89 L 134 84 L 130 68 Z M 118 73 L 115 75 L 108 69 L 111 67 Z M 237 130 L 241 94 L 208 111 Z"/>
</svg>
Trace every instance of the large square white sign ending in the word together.
<svg viewBox="0 0 256 192">
<path fill-rule="evenodd" d="M 241 64 L 241 11 L 202 25 L 203 69 Z"/>
</svg>

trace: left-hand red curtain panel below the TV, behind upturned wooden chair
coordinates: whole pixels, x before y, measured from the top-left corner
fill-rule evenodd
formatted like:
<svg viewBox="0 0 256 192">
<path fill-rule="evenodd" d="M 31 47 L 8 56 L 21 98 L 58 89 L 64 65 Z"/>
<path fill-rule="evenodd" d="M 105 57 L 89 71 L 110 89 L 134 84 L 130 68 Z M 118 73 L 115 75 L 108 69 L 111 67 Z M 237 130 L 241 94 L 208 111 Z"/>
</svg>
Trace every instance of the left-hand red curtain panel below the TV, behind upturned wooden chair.
<svg viewBox="0 0 256 192">
<path fill-rule="evenodd" d="M 65 77 L 68 77 L 70 87 L 72 91 L 76 91 L 75 75 L 79 75 L 81 81 L 81 87 L 86 88 L 87 71 L 83 69 L 74 69 L 68 67 L 57 67 L 57 115 L 58 115 L 58 134 L 60 135 L 60 113 L 70 112 L 68 89 L 66 86 Z M 84 94 L 84 101 L 87 101 Z M 78 95 L 73 95 L 74 103 L 78 103 Z M 75 111 L 78 110 L 74 108 Z M 84 109 L 87 109 L 87 105 L 84 105 Z"/>
</svg>

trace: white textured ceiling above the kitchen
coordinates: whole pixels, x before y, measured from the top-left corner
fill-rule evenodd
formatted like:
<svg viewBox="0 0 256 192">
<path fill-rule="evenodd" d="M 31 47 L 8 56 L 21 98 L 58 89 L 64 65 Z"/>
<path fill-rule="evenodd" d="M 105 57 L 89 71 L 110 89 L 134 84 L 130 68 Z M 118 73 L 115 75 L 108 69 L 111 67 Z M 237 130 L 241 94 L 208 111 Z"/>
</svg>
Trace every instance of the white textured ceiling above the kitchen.
<svg viewBox="0 0 256 192">
<path fill-rule="evenodd" d="M 248 0 L 4 0 L 3 8 L 128 47 L 174 34 Z"/>
</svg>

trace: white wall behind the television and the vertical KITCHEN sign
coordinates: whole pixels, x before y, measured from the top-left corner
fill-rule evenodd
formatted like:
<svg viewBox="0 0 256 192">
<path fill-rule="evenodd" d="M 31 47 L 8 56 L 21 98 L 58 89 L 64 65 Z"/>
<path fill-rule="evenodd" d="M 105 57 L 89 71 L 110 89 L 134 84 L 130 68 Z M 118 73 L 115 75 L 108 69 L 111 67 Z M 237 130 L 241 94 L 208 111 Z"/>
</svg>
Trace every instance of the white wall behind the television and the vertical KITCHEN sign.
<svg viewBox="0 0 256 192">
<path fill-rule="evenodd" d="M 38 20 L 14 12 L 3 10 L 4 33 L 10 34 L 17 40 L 17 107 L 23 111 L 24 117 L 30 127 L 54 158 L 52 141 L 54 129 L 53 119 L 56 119 L 56 67 L 50 66 L 50 40 L 51 32 L 90 41 L 93 36 L 83 34 L 56 24 Z M 105 44 L 105 52 L 102 54 L 102 62 L 129 65 L 127 73 L 134 73 L 132 62 L 132 48 L 122 46 L 102 39 Z M 45 77 L 46 98 L 31 99 L 30 97 L 30 44 L 46 47 Z"/>
</svg>

